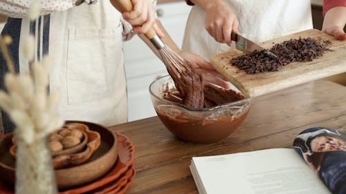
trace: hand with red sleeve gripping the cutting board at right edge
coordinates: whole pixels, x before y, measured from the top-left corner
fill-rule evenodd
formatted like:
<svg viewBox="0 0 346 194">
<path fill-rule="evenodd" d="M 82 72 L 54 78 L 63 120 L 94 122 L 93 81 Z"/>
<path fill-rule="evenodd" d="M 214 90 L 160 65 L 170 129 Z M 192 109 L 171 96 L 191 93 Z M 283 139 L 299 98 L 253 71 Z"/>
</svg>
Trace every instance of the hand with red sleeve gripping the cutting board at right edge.
<svg viewBox="0 0 346 194">
<path fill-rule="evenodd" d="M 346 33 L 343 28 L 346 24 L 346 0 L 325 0 L 323 3 L 322 31 L 336 37 L 339 40 L 346 40 Z"/>
</svg>

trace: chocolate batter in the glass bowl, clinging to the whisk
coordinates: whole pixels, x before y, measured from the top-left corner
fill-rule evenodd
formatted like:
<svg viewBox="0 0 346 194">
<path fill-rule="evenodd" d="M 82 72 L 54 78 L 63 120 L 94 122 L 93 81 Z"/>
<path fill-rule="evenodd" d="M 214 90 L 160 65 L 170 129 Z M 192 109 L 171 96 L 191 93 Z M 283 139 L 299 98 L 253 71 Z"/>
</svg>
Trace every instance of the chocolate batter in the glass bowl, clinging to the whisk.
<svg viewBox="0 0 346 194">
<path fill-rule="evenodd" d="M 166 66 L 176 88 L 168 87 L 162 93 L 163 99 L 184 104 L 190 108 L 213 107 L 226 104 L 244 96 L 233 90 L 226 90 L 212 84 L 203 85 L 202 77 L 188 63 L 181 66 Z M 249 104 L 243 108 L 219 108 L 210 112 L 192 111 L 183 113 L 174 108 L 156 107 L 161 122 L 176 137 L 189 142 L 211 143 L 228 137 L 244 121 Z M 179 110 L 179 109 L 176 109 Z"/>
</svg>

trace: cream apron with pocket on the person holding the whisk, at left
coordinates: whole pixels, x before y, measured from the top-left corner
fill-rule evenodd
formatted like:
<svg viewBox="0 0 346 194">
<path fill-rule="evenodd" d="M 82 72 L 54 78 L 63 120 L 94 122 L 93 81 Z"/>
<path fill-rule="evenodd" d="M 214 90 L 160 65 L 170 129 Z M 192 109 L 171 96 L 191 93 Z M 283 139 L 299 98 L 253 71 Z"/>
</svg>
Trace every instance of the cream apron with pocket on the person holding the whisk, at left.
<svg viewBox="0 0 346 194">
<path fill-rule="evenodd" d="M 64 119 L 105 126 L 127 122 L 120 17 L 104 0 L 51 14 L 50 88 L 60 90 Z"/>
</svg>

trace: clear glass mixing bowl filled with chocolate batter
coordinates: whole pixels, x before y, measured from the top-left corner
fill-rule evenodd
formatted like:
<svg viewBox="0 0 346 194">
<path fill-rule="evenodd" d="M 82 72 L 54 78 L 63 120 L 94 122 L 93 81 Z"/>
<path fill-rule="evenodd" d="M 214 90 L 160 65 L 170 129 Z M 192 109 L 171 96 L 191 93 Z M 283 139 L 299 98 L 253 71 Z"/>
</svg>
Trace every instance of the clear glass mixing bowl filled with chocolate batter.
<svg viewBox="0 0 346 194">
<path fill-rule="evenodd" d="M 188 108 L 163 99 L 163 92 L 175 88 L 169 75 L 149 86 L 152 104 L 165 127 L 176 137 L 194 143 L 212 143 L 228 137 L 246 118 L 251 98 L 245 97 L 212 108 Z M 233 88 L 237 93 L 239 90 Z"/>
</svg>

